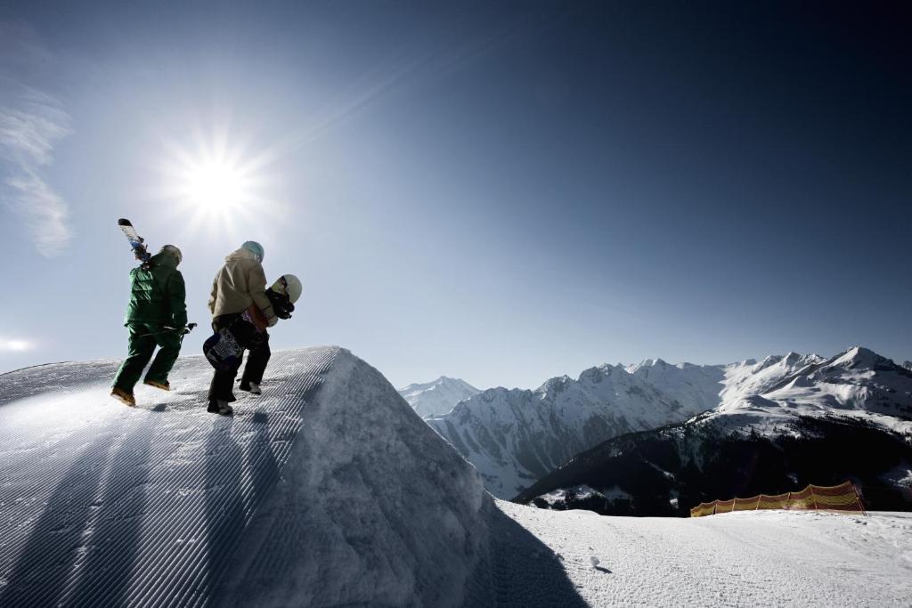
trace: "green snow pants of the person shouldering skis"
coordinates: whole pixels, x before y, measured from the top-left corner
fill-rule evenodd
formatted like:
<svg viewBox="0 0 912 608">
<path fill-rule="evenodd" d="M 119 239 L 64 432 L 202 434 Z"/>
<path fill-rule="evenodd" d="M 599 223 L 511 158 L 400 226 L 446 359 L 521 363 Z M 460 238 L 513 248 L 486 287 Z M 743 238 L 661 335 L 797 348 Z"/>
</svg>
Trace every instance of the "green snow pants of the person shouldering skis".
<svg viewBox="0 0 912 608">
<path fill-rule="evenodd" d="M 130 353 L 120 364 L 114 386 L 132 393 L 133 386 L 140 381 L 142 370 L 155 352 L 155 346 L 160 347 L 159 354 L 146 372 L 146 379 L 167 382 L 168 373 L 181 353 L 181 335 L 163 330 L 158 324 L 130 323 L 127 328 L 130 330 Z"/>
</svg>

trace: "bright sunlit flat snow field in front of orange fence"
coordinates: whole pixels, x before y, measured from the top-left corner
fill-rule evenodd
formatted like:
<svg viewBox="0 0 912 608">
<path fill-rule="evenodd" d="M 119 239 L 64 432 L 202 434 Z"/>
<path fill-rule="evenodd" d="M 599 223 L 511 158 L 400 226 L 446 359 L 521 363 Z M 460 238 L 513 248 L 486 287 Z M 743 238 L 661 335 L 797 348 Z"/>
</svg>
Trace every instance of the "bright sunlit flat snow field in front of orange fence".
<svg viewBox="0 0 912 608">
<path fill-rule="evenodd" d="M 563 564 L 592 606 L 907 606 L 912 597 L 909 513 L 678 519 L 497 506 L 548 546 L 540 567 Z"/>
</svg>

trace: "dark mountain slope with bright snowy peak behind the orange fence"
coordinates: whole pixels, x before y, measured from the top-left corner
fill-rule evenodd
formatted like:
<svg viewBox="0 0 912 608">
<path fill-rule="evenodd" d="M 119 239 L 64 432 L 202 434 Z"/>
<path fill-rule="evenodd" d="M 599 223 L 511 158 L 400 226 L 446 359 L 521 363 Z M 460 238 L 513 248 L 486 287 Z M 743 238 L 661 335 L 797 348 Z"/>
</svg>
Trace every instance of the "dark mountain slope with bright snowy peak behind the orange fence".
<svg viewBox="0 0 912 608">
<path fill-rule="evenodd" d="M 517 500 L 682 515 L 706 500 L 846 479 L 871 509 L 912 509 L 912 371 L 857 346 L 730 367 L 718 407 L 607 440 Z"/>
</svg>

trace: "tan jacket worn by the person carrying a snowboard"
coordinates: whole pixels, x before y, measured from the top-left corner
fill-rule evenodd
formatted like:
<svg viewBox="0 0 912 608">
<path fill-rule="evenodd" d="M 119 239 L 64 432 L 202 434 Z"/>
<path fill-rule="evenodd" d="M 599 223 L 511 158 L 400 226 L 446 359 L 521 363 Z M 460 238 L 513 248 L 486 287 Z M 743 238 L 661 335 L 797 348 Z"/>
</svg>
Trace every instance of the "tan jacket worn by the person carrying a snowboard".
<svg viewBox="0 0 912 608">
<path fill-rule="evenodd" d="M 251 304 L 263 312 L 266 325 L 272 327 L 278 321 L 266 295 L 263 265 L 253 253 L 239 249 L 225 258 L 225 265 L 212 281 L 209 311 L 214 319 L 223 314 L 243 313 Z"/>
</svg>

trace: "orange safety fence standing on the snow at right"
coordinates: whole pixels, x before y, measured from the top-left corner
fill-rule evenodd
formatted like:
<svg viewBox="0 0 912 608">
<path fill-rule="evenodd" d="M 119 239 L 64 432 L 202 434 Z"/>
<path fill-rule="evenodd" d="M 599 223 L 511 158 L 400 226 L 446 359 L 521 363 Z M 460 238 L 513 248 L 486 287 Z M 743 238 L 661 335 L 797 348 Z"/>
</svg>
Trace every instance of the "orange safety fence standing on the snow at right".
<svg viewBox="0 0 912 608">
<path fill-rule="evenodd" d="M 690 517 L 704 517 L 716 513 L 731 513 L 735 510 L 834 510 L 865 512 L 861 493 L 852 483 L 846 481 L 838 486 L 809 485 L 800 492 L 784 494 L 758 494 L 750 499 L 713 500 L 701 502 L 690 510 Z"/>
</svg>

